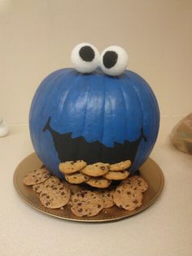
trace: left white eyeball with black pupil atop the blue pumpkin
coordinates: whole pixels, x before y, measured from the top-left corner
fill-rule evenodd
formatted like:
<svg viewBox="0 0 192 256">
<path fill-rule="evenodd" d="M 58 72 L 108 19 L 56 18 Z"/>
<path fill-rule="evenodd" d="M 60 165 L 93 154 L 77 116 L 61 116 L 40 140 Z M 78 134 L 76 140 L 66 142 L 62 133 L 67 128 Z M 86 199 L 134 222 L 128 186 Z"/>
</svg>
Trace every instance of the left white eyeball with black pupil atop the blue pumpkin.
<svg viewBox="0 0 192 256">
<path fill-rule="evenodd" d="M 72 50 L 73 66 L 81 73 L 91 73 L 99 64 L 98 49 L 88 42 L 82 42 Z"/>
</svg>

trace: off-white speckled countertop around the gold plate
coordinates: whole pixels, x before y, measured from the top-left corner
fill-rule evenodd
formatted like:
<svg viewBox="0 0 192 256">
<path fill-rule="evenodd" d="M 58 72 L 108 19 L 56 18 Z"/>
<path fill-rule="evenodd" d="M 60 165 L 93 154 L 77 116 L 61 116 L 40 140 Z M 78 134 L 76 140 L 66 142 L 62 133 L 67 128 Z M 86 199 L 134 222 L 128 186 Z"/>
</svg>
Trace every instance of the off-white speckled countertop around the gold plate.
<svg viewBox="0 0 192 256">
<path fill-rule="evenodd" d="M 151 157 L 164 172 L 158 201 L 132 218 L 76 223 L 41 214 L 21 200 L 13 185 L 16 166 L 33 152 L 28 126 L 11 126 L 0 138 L 0 255 L 192 255 L 192 157 L 168 139 L 181 117 L 162 117 Z"/>
</svg>

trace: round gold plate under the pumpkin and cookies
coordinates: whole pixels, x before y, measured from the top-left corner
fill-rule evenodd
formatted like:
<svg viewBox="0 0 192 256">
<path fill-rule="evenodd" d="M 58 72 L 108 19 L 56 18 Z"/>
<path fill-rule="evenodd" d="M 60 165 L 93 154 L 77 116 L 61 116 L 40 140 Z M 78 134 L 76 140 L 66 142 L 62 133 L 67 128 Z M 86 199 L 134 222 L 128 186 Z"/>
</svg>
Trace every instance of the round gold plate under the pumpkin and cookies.
<svg viewBox="0 0 192 256">
<path fill-rule="evenodd" d="M 28 157 L 25 157 L 23 161 L 20 162 L 17 166 L 14 174 L 14 185 L 17 192 L 20 196 L 31 205 L 36 210 L 41 211 L 44 214 L 50 214 L 51 216 L 57 218 L 63 218 L 73 221 L 80 222 L 107 222 L 114 221 L 121 218 L 127 218 L 134 214 L 140 213 L 142 210 L 145 210 L 151 206 L 157 200 L 158 196 L 164 188 L 164 174 L 160 170 L 159 166 L 151 158 L 148 158 L 146 162 L 140 168 L 140 174 L 149 185 L 149 188 L 146 192 L 143 193 L 142 206 L 136 210 L 122 210 L 119 209 L 116 205 L 103 209 L 99 214 L 93 217 L 77 217 L 72 214 L 70 207 L 68 205 L 63 207 L 63 210 L 48 209 L 41 205 L 39 201 L 39 194 L 33 191 L 32 186 L 26 186 L 23 183 L 24 176 L 28 174 L 29 171 L 39 169 L 42 166 L 41 161 L 37 157 L 36 153 L 32 153 Z M 68 184 L 69 188 L 71 184 Z M 74 187 L 74 185 L 72 185 Z"/>
</svg>

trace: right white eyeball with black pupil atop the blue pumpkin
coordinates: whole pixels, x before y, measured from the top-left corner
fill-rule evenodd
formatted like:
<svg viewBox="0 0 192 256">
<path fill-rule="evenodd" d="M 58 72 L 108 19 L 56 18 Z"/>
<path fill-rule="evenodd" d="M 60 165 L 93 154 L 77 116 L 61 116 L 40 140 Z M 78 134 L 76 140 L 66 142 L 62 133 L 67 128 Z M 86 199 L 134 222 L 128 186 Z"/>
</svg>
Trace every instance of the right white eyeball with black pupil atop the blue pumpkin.
<svg viewBox="0 0 192 256">
<path fill-rule="evenodd" d="M 100 65 L 107 75 L 119 76 L 127 68 L 128 55 L 120 46 L 109 46 L 101 55 Z"/>
</svg>

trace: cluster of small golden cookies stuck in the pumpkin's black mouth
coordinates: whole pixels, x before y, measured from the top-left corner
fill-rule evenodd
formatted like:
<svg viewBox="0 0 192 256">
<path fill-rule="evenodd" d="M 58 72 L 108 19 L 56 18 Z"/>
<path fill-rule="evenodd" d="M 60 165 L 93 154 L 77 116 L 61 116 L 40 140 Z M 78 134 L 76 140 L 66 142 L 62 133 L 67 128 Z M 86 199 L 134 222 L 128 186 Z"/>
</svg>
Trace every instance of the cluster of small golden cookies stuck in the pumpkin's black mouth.
<svg viewBox="0 0 192 256">
<path fill-rule="evenodd" d="M 112 180 L 122 180 L 129 176 L 131 161 L 116 164 L 94 163 L 87 165 L 83 160 L 65 161 L 59 164 L 59 170 L 65 174 L 68 183 L 87 183 L 94 188 L 108 188 Z"/>
</svg>

